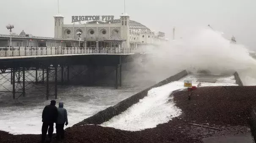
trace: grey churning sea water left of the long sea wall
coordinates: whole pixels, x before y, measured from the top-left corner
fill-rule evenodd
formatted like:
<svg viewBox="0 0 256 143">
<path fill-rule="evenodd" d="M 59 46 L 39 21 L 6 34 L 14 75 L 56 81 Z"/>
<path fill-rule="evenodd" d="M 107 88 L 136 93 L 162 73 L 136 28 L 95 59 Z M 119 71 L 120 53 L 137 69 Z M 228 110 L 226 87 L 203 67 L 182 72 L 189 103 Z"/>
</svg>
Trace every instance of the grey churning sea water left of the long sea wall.
<svg viewBox="0 0 256 143">
<path fill-rule="evenodd" d="M 58 107 L 60 101 L 64 103 L 69 119 L 69 125 L 64 128 L 71 127 L 145 88 L 129 87 L 118 90 L 113 87 L 69 86 L 59 88 L 56 106 Z M 35 98 L 25 97 L 19 100 L 25 103 L 25 106 L 0 107 L 0 130 L 14 135 L 41 134 L 42 111 L 44 106 L 50 104 L 50 101 L 46 101 L 41 96 L 37 97 L 36 92 L 33 93 L 31 96 L 35 96 Z M 53 99 L 52 96 L 51 99 Z"/>
</svg>

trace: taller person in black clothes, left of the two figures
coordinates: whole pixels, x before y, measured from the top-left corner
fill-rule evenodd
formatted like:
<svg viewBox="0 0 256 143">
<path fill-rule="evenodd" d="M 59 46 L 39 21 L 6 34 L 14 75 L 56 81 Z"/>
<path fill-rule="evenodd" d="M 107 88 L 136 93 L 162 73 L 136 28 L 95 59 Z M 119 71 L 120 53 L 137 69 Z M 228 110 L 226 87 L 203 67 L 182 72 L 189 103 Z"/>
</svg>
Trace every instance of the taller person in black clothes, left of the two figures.
<svg viewBox="0 0 256 143">
<path fill-rule="evenodd" d="M 55 106 L 56 101 L 52 100 L 50 105 L 44 107 L 43 114 L 42 114 L 42 140 L 41 142 L 44 143 L 45 137 L 48 130 L 48 137 L 50 141 L 52 140 L 52 133 L 53 133 L 53 123 L 56 122 L 58 117 L 58 110 Z M 49 129 L 48 129 L 49 127 Z"/>
</svg>

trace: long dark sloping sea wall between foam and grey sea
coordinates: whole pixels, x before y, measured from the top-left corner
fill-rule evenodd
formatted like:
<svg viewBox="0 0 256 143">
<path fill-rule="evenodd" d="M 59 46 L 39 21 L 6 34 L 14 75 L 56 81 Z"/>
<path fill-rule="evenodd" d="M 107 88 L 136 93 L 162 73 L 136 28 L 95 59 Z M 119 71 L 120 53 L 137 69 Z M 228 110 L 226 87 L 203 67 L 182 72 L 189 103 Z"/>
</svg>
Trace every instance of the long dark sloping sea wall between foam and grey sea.
<svg viewBox="0 0 256 143">
<path fill-rule="evenodd" d="M 74 126 L 80 126 L 83 124 L 102 124 L 103 122 L 108 121 L 109 119 L 111 119 L 112 117 L 121 114 L 123 111 L 127 110 L 130 106 L 132 106 L 135 103 L 138 103 L 140 99 L 144 98 L 145 96 L 147 96 L 148 91 L 151 90 L 152 88 L 155 87 L 160 87 L 162 85 L 166 85 L 170 82 L 174 82 L 177 81 L 179 79 L 181 79 L 182 77 L 186 76 L 188 73 L 186 70 L 179 72 L 178 74 L 175 74 L 161 82 L 158 82 L 157 84 L 143 90 L 140 91 L 139 93 L 132 95 L 131 97 L 119 102 L 118 104 L 116 104 L 115 106 L 110 106 L 107 109 L 103 110 L 103 111 L 99 111 L 97 114 L 95 114 L 94 116 L 91 116 L 87 119 L 84 119 L 82 122 L 79 122 L 77 124 L 74 124 Z"/>
</svg>

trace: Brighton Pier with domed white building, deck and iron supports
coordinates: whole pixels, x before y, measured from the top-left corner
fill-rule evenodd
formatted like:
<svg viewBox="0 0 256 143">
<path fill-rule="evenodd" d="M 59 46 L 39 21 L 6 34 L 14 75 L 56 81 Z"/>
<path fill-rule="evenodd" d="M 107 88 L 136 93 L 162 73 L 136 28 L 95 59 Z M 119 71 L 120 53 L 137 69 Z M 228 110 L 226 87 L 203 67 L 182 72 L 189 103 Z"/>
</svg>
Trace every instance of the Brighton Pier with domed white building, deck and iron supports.
<svg viewBox="0 0 256 143">
<path fill-rule="evenodd" d="M 57 98 L 58 85 L 118 88 L 122 70 L 129 69 L 129 63 L 145 60 L 148 53 L 168 41 L 163 32 L 154 33 L 130 21 L 127 13 L 112 24 L 91 21 L 65 25 L 64 16 L 58 13 L 53 17 L 55 37 L 36 37 L 24 31 L 12 34 L 14 26 L 6 26 L 10 35 L 0 35 L 0 79 L 6 80 L 0 82 L 0 92 L 12 93 L 17 99 L 25 97 L 30 88 L 41 86 L 46 88 L 40 90 L 48 100 L 49 96 Z"/>
</svg>

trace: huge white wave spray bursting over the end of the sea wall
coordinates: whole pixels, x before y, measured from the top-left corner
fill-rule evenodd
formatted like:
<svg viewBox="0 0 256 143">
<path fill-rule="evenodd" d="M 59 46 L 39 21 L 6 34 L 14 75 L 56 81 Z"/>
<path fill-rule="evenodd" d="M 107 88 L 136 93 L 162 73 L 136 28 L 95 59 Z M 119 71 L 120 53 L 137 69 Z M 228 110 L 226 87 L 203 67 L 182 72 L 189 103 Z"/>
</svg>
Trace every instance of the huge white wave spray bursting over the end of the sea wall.
<svg viewBox="0 0 256 143">
<path fill-rule="evenodd" d="M 212 29 L 195 29 L 186 37 L 157 48 L 149 55 L 144 69 L 157 79 L 181 69 L 212 75 L 238 72 L 244 85 L 256 85 L 256 60 L 244 45 L 231 44 L 225 37 Z"/>
</svg>

